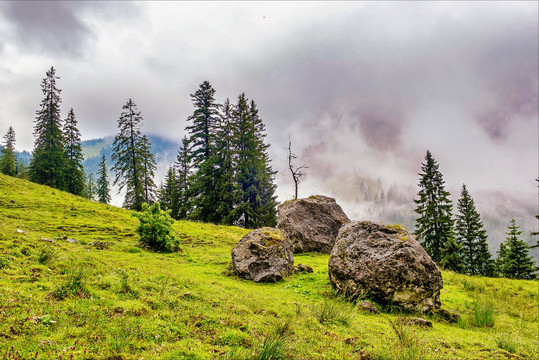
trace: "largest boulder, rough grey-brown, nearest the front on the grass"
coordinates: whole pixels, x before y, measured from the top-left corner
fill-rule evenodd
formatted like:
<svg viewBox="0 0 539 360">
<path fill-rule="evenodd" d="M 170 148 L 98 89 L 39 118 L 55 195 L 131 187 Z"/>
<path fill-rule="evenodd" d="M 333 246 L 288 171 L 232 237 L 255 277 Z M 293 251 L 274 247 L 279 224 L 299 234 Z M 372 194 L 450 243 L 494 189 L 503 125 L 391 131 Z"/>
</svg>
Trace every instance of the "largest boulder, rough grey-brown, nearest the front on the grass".
<svg viewBox="0 0 539 360">
<path fill-rule="evenodd" d="M 343 226 L 328 264 L 333 287 L 352 299 L 429 312 L 440 307 L 442 274 L 408 230 L 370 221 Z"/>
</svg>

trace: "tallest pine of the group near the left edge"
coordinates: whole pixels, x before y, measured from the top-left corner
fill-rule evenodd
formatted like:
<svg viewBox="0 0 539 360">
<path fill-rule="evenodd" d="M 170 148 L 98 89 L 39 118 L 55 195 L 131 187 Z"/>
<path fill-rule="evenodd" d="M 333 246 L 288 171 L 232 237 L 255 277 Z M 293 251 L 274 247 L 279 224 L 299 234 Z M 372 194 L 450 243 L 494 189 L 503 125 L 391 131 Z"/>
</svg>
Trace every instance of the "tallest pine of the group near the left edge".
<svg viewBox="0 0 539 360">
<path fill-rule="evenodd" d="M 56 87 L 57 79 L 59 77 L 56 76 L 56 70 L 51 67 L 41 82 L 41 91 L 45 98 L 41 101 L 41 108 L 36 111 L 36 140 L 29 177 L 38 184 L 66 190 L 66 156 L 60 120 L 62 100 L 61 90 Z"/>
</svg>

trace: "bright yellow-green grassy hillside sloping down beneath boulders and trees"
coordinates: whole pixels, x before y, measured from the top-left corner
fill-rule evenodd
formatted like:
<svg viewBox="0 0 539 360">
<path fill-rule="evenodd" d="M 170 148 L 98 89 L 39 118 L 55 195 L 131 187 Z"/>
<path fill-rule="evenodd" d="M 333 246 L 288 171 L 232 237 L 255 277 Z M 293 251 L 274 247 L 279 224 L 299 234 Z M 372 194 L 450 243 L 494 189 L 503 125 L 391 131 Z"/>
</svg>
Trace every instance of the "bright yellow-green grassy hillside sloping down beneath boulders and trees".
<svg viewBox="0 0 539 360">
<path fill-rule="evenodd" d="M 295 257 L 313 274 L 254 284 L 227 275 L 230 250 L 247 230 L 179 221 L 182 251 L 160 254 L 137 247 L 136 224 L 129 211 L 0 175 L 0 358 L 531 359 L 539 353 L 534 281 L 443 272 L 442 304 L 461 314 L 459 323 L 431 316 L 432 329 L 400 326 L 393 322 L 402 314 L 374 315 L 336 297 L 327 255 Z M 100 249 L 95 241 L 113 244 Z"/>
</svg>

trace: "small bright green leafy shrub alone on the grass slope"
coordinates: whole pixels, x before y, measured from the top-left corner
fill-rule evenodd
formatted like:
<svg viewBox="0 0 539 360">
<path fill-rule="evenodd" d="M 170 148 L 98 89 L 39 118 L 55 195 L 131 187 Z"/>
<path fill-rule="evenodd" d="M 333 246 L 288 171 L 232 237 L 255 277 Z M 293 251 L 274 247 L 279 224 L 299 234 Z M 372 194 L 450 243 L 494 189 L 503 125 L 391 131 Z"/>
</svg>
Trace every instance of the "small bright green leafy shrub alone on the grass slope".
<svg viewBox="0 0 539 360">
<path fill-rule="evenodd" d="M 159 203 L 155 202 L 152 206 L 142 204 L 142 212 L 133 213 L 133 216 L 140 221 L 136 231 L 143 246 L 163 252 L 177 249 L 178 241 L 172 233 L 174 220 L 169 212 L 161 210 Z"/>
</svg>

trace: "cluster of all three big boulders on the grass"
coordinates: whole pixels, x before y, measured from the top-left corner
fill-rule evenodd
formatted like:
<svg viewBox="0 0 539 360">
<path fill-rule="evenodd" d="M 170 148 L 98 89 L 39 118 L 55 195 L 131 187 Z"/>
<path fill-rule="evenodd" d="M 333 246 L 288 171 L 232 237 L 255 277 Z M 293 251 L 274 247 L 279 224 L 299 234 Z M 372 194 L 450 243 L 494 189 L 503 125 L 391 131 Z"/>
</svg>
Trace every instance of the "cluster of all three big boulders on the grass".
<svg viewBox="0 0 539 360">
<path fill-rule="evenodd" d="M 279 207 L 277 228 L 249 232 L 232 249 L 234 273 L 255 282 L 276 282 L 308 266 L 294 253 L 330 254 L 329 279 L 351 300 L 429 312 L 440 307 L 442 275 L 401 226 L 350 221 L 335 199 L 316 195 Z"/>
</svg>

